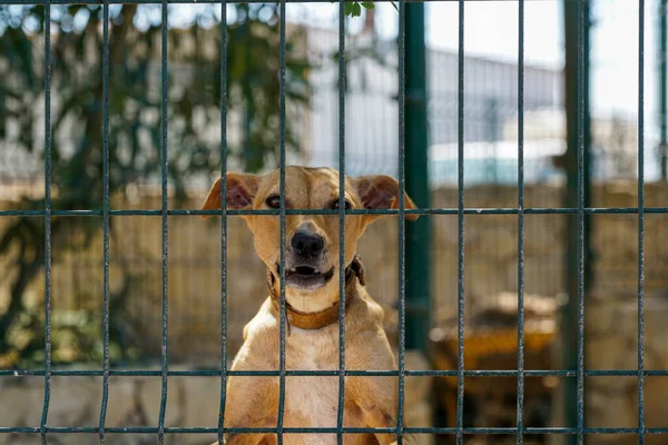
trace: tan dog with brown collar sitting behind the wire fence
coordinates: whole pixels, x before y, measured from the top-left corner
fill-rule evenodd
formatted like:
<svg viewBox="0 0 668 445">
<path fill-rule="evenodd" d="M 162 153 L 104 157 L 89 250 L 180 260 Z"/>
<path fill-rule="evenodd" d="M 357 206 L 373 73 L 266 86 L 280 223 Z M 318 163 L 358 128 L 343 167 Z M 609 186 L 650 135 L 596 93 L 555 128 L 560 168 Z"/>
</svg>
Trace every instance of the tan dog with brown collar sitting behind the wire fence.
<svg viewBox="0 0 668 445">
<path fill-rule="evenodd" d="M 285 206 L 288 209 L 389 209 L 399 206 L 399 185 L 387 176 L 345 178 L 345 202 L 338 201 L 338 172 L 326 168 L 287 167 Z M 405 208 L 415 208 L 405 196 Z M 279 207 L 279 171 L 265 176 L 227 175 L 229 209 Z M 220 179 L 212 187 L 204 209 L 220 209 Z M 345 367 L 348 370 L 396 369 L 383 330 L 383 309 L 364 289 L 357 239 L 381 215 L 345 217 Z M 406 216 L 416 219 L 416 215 Z M 232 369 L 279 369 L 278 216 L 243 217 L 254 234 L 255 250 L 267 266 L 269 297 L 244 328 L 244 344 Z M 287 327 L 285 369 L 338 369 L 338 215 L 288 215 L 285 218 L 285 298 Z M 227 384 L 225 427 L 275 428 L 278 417 L 278 377 L 232 376 Z M 344 427 L 395 427 L 397 378 L 346 376 Z M 283 426 L 335 428 L 337 376 L 287 376 Z M 394 442 L 394 434 L 345 434 L 346 444 Z M 227 444 L 273 444 L 275 434 L 228 434 Z M 333 444 L 336 434 L 284 435 L 286 444 Z"/>
</svg>

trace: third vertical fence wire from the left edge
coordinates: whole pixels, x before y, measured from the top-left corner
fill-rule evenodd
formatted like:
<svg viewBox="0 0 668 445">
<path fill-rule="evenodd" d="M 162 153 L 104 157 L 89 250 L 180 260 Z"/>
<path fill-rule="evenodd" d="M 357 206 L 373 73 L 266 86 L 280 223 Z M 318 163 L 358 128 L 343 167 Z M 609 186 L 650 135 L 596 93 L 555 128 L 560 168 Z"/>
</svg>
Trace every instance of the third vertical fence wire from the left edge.
<svg viewBox="0 0 668 445">
<path fill-rule="evenodd" d="M 161 375 L 161 393 L 160 393 L 160 412 L 158 416 L 158 442 L 160 445 L 165 443 L 165 413 L 167 411 L 167 323 L 168 323 L 168 290 L 167 290 L 167 267 L 168 267 L 168 225 L 167 225 L 167 88 L 168 88 L 168 73 L 167 73 L 167 31 L 168 31 L 168 0 L 163 0 L 163 50 L 161 50 L 161 68 L 160 68 L 160 81 L 161 81 L 161 148 L 160 148 L 160 169 L 161 169 L 161 185 L 163 185 L 163 349 L 160 352 L 160 375 Z"/>
</svg>

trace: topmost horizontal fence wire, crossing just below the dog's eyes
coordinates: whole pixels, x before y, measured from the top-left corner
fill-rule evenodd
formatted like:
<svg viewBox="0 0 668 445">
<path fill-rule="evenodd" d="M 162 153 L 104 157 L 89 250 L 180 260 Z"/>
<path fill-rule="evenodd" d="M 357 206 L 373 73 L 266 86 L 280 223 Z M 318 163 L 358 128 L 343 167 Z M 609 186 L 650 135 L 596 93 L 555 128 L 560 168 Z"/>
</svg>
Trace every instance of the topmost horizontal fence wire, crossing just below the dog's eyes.
<svg viewBox="0 0 668 445">
<path fill-rule="evenodd" d="M 586 207 L 584 214 L 589 215 L 637 215 L 637 207 Z M 405 215 L 458 215 L 456 208 L 406 209 Z M 668 207 L 645 207 L 645 214 L 668 214 Z M 465 208 L 465 215 L 518 215 L 519 210 L 512 207 L 504 208 Z M 524 215 L 577 215 L 573 207 L 534 207 L 525 208 Z M 330 209 L 286 209 L 286 215 L 338 215 L 338 210 Z M 386 210 L 345 210 L 346 215 L 399 215 L 396 209 Z M 52 210 L 52 216 L 84 217 L 104 216 L 102 210 Z M 109 210 L 110 216 L 161 216 L 163 210 Z M 220 216 L 220 210 L 174 209 L 167 210 L 167 216 Z M 279 216 L 278 210 L 227 210 L 229 216 L 266 215 Z M 45 216 L 45 210 L 0 210 L 0 217 L 9 216 Z"/>
</svg>

